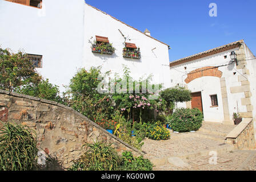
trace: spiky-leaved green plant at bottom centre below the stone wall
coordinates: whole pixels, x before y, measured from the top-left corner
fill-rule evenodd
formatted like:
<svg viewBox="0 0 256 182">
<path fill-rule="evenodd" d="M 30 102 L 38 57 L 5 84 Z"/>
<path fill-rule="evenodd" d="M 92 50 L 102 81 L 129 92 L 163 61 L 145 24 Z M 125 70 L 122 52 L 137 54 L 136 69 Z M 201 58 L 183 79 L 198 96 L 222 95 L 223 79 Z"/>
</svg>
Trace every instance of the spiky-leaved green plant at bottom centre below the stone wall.
<svg viewBox="0 0 256 182">
<path fill-rule="evenodd" d="M 71 171 L 117 171 L 122 165 L 122 158 L 111 144 L 95 142 L 86 144 L 89 150 L 76 160 Z"/>
</svg>

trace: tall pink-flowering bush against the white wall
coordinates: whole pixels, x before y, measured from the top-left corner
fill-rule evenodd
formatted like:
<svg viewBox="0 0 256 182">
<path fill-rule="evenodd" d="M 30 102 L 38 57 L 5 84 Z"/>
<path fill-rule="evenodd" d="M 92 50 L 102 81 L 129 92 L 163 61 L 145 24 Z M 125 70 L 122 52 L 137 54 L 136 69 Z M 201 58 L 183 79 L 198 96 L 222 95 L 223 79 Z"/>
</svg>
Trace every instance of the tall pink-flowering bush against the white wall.
<svg viewBox="0 0 256 182">
<path fill-rule="evenodd" d="M 123 112 L 127 111 L 127 121 L 132 117 L 133 119 L 139 119 L 142 123 L 142 114 L 146 114 L 149 117 L 149 110 L 158 110 L 161 107 L 162 102 L 159 98 L 151 99 L 156 96 L 157 93 L 152 93 L 151 88 L 158 88 L 159 91 L 162 89 L 162 84 L 151 84 L 151 76 L 146 79 L 140 78 L 138 81 L 134 80 L 130 75 L 129 68 L 123 69 L 123 78 L 116 76 L 113 82 L 120 85 L 120 88 L 116 86 L 115 89 L 123 90 L 122 93 L 115 92 L 112 95 L 113 101 L 115 102 L 115 109 Z M 143 85 L 142 83 L 146 83 Z M 124 88 L 126 86 L 126 88 Z M 127 89 L 127 90 L 124 90 Z M 135 117 L 135 113 L 138 113 L 138 117 Z M 130 116 L 131 115 L 131 116 Z"/>
</svg>

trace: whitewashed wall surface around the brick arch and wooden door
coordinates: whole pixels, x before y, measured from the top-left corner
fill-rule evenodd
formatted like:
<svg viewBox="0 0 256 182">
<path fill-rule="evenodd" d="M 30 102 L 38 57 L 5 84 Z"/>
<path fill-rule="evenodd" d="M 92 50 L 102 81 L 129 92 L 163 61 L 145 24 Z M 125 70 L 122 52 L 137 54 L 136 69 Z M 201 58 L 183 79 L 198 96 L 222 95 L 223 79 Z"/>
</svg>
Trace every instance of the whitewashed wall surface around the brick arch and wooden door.
<svg viewBox="0 0 256 182">
<path fill-rule="evenodd" d="M 230 49 L 228 51 L 223 51 L 215 55 L 203 57 L 201 59 L 196 59 L 193 61 L 189 61 L 188 63 L 183 63 L 171 67 L 171 86 L 176 86 L 177 84 L 179 84 L 180 86 L 185 85 L 187 73 L 197 68 L 229 64 L 230 53 L 231 51 L 236 50 L 238 50 L 238 48 Z M 227 56 L 227 58 L 225 59 L 224 56 Z M 187 67 L 187 69 L 185 69 L 185 67 Z M 231 120 L 233 118 L 233 113 L 246 112 L 246 106 L 241 105 L 241 98 L 245 97 L 244 93 L 230 93 L 231 86 L 241 86 L 241 83 L 238 82 L 238 75 L 240 75 L 239 73 L 242 74 L 242 70 L 235 70 L 235 63 L 224 67 L 219 67 L 218 69 L 222 72 L 222 77 L 226 78 L 227 98 L 229 102 L 229 114 Z M 234 72 L 236 72 L 235 75 L 233 74 Z M 202 92 L 202 104 L 205 121 L 223 122 L 223 104 L 219 78 L 210 76 L 201 77 L 189 82 L 187 86 L 189 87 L 191 92 Z M 210 107 L 211 94 L 217 94 L 219 107 Z M 178 103 L 178 107 L 186 107 L 186 104 Z"/>
</svg>

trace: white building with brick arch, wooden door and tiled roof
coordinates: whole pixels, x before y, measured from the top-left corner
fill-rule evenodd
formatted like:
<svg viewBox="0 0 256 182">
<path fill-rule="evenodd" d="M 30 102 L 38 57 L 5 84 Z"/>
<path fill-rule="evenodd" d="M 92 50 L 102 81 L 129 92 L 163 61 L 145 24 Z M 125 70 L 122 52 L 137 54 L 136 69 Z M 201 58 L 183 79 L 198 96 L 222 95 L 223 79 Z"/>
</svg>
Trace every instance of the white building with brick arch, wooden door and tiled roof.
<svg viewBox="0 0 256 182">
<path fill-rule="evenodd" d="M 231 60 L 231 52 L 237 62 Z M 170 63 L 171 86 L 185 86 L 192 100 L 178 107 L 197 107 L 204 120 L 233 124 L 233 113 L 255 117 L 256 59 L 243 40 Z"/>
</svg>

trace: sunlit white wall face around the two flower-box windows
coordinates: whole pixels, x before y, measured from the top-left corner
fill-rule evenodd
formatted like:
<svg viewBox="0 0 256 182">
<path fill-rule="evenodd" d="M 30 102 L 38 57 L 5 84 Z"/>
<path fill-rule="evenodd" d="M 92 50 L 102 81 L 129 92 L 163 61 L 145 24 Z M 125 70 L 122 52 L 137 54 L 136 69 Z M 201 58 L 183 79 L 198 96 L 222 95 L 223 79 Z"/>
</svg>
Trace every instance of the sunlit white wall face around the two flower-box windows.
<svg viewBox="0 0 256 182">
<path fill-rule="evenodd" d="M 146 28 L 146 27 L 145 27 Z M 130 41 L 141 49 L 141 59 L 129 59 L 123 57 L 123 47 L 125 39 L 118 31 L 121 30 Z M 95 35 L 109 38 L 116 49 L 113 55 L 99 54 L 91 52 L 91 43 L 95 40 Z M 154 33 L 151 34 L 154 36 Z M 89 42 L 90 41 L 90 42 Z M 83 54 L 83 65 L 85 68 L 92 66 L 102 66 L 102 71 L 123 74 L 122 64 L 130 68 L 131 76 L 138 79 L 153 74 L 155 83 L 164 83 L 165 87 L 170 86 L 169 75 L 169 52 L 168 46 L 149 38 L 142 32 L 134 30 L 124 23 L 115 20 L 110 15 L 106 15 L 93 7 L 85 6 L 85 47 Z M 156 49 L 154 49 L 156 48 Z M 154 51 L 151 51 L 154 49 Z"/>
</svg>

